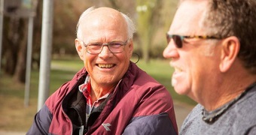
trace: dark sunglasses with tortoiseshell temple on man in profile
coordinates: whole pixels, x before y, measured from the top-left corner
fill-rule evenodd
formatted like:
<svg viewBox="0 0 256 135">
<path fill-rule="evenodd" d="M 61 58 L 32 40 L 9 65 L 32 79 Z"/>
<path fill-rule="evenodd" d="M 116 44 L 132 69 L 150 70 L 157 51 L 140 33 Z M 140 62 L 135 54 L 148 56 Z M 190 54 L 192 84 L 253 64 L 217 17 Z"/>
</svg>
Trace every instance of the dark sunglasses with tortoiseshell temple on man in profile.
<svg viewBox="0 0 256 135">
<path fill-rule="evenodd" d="M 200 38 L 200 39 L 221 39 L 221 37 L 215 37 L 215 36 L 198 36 L 198 35 L 194 35 L 194 36 L 181 36 L 178 34 L 168 34 L 166 33 L 166 39 L 167 39 L 167 43 L 169 43 L 171 41 L 171 39 L 173 39 L 175 46 L 177 48 L 181 48 L 182 47 L 182 42 L 184 40 L 184 38 Z"/>
</svg>

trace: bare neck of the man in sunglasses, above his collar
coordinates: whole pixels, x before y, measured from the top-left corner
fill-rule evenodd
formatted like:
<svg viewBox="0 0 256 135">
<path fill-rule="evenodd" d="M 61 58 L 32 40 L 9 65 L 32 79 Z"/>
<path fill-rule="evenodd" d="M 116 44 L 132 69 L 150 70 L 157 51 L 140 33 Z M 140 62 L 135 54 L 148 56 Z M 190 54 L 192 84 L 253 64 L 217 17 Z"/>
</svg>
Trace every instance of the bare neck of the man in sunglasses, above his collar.
<svg viewBox="0 0 256 135">
<path fill-rule="evenodd" d="M 205 99 L 206 101 L 202 105 L 207 111 L 216 110 L 237 98 L 254 82 L 256 82 L 256 75 L 248 74 L 246 71 L 239 71 L 239 74 L 223 77 L 221 83 L 209 91 L 209 96 L 207 96 L 209 98 Z"/>
</svg>

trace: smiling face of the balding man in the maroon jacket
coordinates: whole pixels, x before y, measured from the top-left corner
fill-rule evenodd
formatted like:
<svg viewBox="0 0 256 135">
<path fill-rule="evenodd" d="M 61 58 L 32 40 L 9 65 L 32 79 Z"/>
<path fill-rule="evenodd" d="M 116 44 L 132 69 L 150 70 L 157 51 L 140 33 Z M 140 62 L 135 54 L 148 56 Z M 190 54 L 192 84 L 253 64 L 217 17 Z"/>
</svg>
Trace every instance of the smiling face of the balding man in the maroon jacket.
<svg viewBox="0 0 256 135">
<path fill-rule="evenodd" d="M 133 53 L 133 40 L 128 40 L 127 24 L 122 15 L 107 7 L 93 10 L 80 24 L 82 38 L 76 39 L 78 55 L 84 61 L 84 67 L 90 74 L 94 89 L 110 90 L 116 86 L 126 73 Z M 128 40 L 123 52 L 112 53 L 108 46 L 103 46 L 99 54 L 87 52 L 82 41 L 87 43 L 109 43 Z"/>
</svg>

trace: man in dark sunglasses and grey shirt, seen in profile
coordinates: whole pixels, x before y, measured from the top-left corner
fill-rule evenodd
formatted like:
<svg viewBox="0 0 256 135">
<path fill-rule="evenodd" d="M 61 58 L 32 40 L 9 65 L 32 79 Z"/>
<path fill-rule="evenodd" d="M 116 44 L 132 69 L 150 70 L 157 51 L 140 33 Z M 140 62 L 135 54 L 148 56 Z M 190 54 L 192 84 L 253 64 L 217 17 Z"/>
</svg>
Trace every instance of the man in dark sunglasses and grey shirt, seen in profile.
<svg viewBox="0 0 256 135">
<path fill-rule="evenodd" d="M 184 0 L 163 51 L 197 106 L 180 134 L 256 134 L 256 1 Z"/>
</svg>

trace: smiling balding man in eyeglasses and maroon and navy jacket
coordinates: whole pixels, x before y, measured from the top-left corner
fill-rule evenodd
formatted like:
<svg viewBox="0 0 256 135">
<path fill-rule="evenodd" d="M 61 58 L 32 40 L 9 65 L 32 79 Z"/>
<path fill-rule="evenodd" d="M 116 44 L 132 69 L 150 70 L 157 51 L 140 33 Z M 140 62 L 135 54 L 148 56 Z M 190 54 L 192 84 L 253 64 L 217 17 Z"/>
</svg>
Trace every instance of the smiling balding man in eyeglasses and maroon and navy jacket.
<svg viewBox="0 0 256 135">
<path fill-rule="evenodd" d="M 135 30 L 117 10 L 84 11 L 75 39 L 84 68 L 47 99 L 27 134 L 178 134 L 169 92 L 130 62 Z"/>
</svg>

